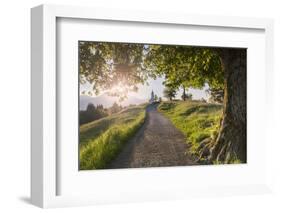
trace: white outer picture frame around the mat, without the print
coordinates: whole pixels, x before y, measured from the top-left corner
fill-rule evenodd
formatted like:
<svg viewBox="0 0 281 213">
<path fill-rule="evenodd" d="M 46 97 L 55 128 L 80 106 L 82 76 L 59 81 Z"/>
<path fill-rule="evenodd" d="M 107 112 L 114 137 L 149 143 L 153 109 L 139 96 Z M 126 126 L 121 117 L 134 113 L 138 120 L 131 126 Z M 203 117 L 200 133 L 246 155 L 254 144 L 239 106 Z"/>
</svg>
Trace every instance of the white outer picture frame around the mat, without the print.
<svg viewBox="0 0 281 213">
<path fill-rule="evenodd" d="M 193 183 L 194 187 L 189 186 L 177 188 L 170 185 L 166 189 L 151 188 L 151 191 L 142 193 L 133 192 L 132 189 L 127 191 L 110 192 L 105 190 L 103 195 L 58 195 L 60 158 L 57 146 L 57 88 L 60 82 L 57 79 L 57 21 L 59 18 L 79 19 L 79 20 L 100 20 L 100 21 L 118 21 L 119 25 L 126 22 L 142 23 L 142 25 L 154 24 L 155 26 L 198 26 L 201 28 L 226 29 L 232 30 L 257 30 L 264 35 L 264 69 L 263 73 L 266 79 L 264 81 L 264 92 L 266 105 L 270 108 L 273 103 L 273 96 L 270 90 L 273 88 L 273 21 L 270 19 L 256 18 L 238 18 L 238 17 L 216 17 L 203 15 L 173 14 L 173 13 L 153 13 L 148 11 L 121 11 L 101 8 L 84 8 L 74 6 L 53 6 L 41 5 L 31 10 L 31 71 L 32 71 L 32 88 L 31 88 L 31 201 L 33 204 L 47 207 L 62 207 L 76 205 L 91 205 L 99 203 L 115 202 L 138 202 L 144 200 L 165 200 L 165 199 L 182 199 L 188 197 L 214 196 L 214 195 L 233 195 L 233 194 L 253 194 L 265 193 L 271 191 L 271 163 L 270 163 L 270 116 L 264 117 L 266 130 L 263 134 L 266 146 L 266 160 L 261 168 L 261 173 L 265 176 L 258 181 L 240 181 L 239 184 L 229 185 L 226 183 L 200 186 L 200 183 Z M 75 115 L 74 115 L 75 116 Z M 73 156 L 77 158 L 77 156 Z M 226 167 L 225 167 L 226 168 Z M 237 169 L 238 167 L 236 167 Z M 169 168 L 168 168 L 169 169 Z M 235 168 L 234 168 L 235 169 Z M 238 168 L 238 170 L 240 167 Z M 245 167 L 247 169 L 247 167 Z M 162 171 L 149 169 L 138 172 L 122 171 L 122 175 L 134 175 L 146 173 L 145 175 L 161 175 Z M 200 170 L 200 168 L 199 168 Z M 207 170 L 211 171 L 212 167 Z M 226 171 L 231 169 L 226 168 Z M 164 171 L 164 170 L 163 170 Z M 176 170 L 173 170 L 176 171 Z M 183 172 L 184 169 L 178 169 Z M 203 171 L 203 170 L 202 170 Z M 233 170 L 234 171 L 234 170 Z M 240 170 L 239 170 L 240 171 Z M 106 171 L 110 172 L 110 171 Z M 165 170 L 167 172 L 167 169 Z M 119 175 L 118 171 L 112 175 Z M 160 174 L 161 173 L 161 174 Z M 200 174 L 200 171 L 198 175 Z M 91 174 L 95 175 L 95 174 Z M 170 176 L 173 178 L 174 176 Z M 165 178 L 164 178 L 165 179 Z M 73 183 L 75 184 L 75 183 Z M 164 184 L 161 183 L 164 187 Z M 159 185 L 161 186 L 161 185 Z M 158 187 L 159 187 L 158 186 Z M 119 193 L 122 193 L 120 196 Z"/>
</svg>

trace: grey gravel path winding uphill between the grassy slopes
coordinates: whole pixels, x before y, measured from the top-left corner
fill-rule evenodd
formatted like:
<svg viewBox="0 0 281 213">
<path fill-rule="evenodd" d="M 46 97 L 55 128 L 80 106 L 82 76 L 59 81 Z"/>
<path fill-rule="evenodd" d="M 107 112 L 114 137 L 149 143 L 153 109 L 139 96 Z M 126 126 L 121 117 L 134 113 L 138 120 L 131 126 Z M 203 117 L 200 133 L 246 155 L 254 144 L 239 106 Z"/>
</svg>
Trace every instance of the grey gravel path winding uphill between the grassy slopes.
<svg viewBox="0 0 281 213">
<path fill-rule="evenodd" d="M 144 125 L 109 168 L 194 165 L 185 154 L 187 148 L 184 135 L 157 111 L 156 104 L 150 105 Z"/>
</svg>

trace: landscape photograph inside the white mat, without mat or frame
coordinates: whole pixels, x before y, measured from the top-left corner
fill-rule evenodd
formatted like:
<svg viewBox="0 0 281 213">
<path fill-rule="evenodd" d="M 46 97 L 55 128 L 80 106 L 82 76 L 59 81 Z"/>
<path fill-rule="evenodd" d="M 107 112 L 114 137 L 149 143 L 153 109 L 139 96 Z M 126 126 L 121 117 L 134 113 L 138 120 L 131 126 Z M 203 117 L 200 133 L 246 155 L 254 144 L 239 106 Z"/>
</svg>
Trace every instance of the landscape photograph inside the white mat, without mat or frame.
<svg viewBox="0 0 281 213">
<path fill-rule="evenodd" d="M 79 170 L 247 163 L 247 49 L 78 41 Z"/>
</svg>

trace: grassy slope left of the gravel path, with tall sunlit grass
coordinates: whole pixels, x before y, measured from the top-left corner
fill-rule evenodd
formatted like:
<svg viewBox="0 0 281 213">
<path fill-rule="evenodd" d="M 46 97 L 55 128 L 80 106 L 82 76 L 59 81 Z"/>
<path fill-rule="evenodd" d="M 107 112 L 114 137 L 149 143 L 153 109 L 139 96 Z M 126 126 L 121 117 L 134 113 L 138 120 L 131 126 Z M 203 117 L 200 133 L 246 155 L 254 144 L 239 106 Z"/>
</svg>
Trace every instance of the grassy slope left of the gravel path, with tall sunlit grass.
<svg viewBox="0 0 281 213">
<path fill-rule="evenodd" d="M 80 169 L 105 168 L 145 120 L 146 105 L 80 126 Z"/>
</svg>

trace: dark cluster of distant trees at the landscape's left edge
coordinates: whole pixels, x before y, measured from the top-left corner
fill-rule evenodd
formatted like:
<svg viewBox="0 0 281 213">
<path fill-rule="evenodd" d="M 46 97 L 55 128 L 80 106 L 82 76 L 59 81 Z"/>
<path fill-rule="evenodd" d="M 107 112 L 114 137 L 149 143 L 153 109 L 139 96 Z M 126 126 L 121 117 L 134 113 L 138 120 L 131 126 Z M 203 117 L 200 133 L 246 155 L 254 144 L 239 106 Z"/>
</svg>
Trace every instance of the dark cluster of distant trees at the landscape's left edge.
<svg viewBox="0 0 281 213">
<path fill-rule="evenodd" d="M 98 120 L 108 115 L 107 109 L 103 108 L 103 105 L 88 104 L 85 111 L 79 112 L 79 123 L 80 125 L 89 123 L 91 121 Z"/>
</svg>

